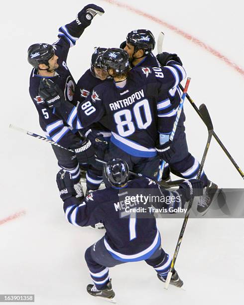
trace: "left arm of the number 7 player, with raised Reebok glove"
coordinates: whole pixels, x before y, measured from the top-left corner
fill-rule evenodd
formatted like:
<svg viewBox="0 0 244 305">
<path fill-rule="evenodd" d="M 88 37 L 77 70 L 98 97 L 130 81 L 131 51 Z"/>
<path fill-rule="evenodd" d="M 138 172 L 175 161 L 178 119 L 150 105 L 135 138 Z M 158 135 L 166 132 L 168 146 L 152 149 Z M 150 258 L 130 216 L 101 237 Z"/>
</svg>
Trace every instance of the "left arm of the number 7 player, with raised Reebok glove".
<svg viewBox="0 0 244 305">
<path fill-rule="evenodd" d="M 70 172 L 60 170 L 57 173 L 56 181 L 60 197 L 64 202 L 64 212 L 68 222 L 83 227 L 95 225 L 103 219 L 103 211 L 99 209 L 101 202 L 97 202 L 95 198 L 92 198 L 92 195 L 76 198 Z"/>
</svg>

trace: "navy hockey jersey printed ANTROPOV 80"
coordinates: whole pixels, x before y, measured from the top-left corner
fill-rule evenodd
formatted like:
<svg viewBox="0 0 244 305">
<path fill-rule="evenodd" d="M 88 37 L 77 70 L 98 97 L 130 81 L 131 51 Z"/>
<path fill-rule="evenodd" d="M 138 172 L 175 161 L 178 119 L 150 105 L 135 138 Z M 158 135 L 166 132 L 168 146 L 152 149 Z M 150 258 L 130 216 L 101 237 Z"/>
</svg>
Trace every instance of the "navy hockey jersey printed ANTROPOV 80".
<svg viewBox="0 0 244 305">
<path fill-rule="evenodd" d="M 175 91 L 185 77 L 184 68 L 174 61 L 161 68 L 134 68 L 128 72 L 123 88 L 104 82 L 78 109 L 60 110 L 69 126 L 82 129 L 99 121 L 111 130 L 114 145 L 134 156 L 153 157 L 161 111 L 158 96 L 163 91 Z"/>
</svg>

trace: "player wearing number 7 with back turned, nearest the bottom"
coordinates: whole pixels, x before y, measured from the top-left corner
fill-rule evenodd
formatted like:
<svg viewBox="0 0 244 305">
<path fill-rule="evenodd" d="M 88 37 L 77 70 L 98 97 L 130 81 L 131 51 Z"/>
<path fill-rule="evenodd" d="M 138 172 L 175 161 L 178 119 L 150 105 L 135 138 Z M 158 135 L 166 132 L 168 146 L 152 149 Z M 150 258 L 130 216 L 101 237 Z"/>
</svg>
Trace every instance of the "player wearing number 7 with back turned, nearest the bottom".
<svg viewBox="0 0 244 305">
<path fill-rule="evenodd" d="M 69 172 L 59 171 L 57 184 L 61 199 L 64 201 L 66 219 L 74 225 L 89 226 L 100 219 L 106 227 L 105 236 L 86 250 L 85 259 L 94 285 L 87 286 L 87 292 L 94 297 L 112 299 L 115 293 L 109 277 L 109 267 L 126 262 L 145 262 L 154 268 L 160 281 L 165 282 L 170 269 L 171 258 L 161 248 L 160 233 L 150 209 L 184 208 L 185 201 L 191 196 L 202 194 L 202 182 L 192 179 L 180 184 L 179 189 L 170 192 L 160 189 L 155 182 L 146 178 L 128 181 L 128 166 L 121 159 L 109 161 L 104 167 L 111 187 L 98 190 L 86 198 L 77 199 Z M 153 192 L 159 196 L 158 202 L 132 200 L 127 197 L 130 190 L 136 189 L 138 198 Z M 134 193 L 134 192 L 132 192 Z M 140 197 L 142 196 L 142 197 Z M 131 198 L 131 199 L 130 199 Z M 165 199 L 168 198 L 168 201 Z M 181 198 L 175 200 L 175 198 Z M 167 203 L 166 203 L 167 202 Z M 143 206 L 144 210 L 133 212 Z M 150 209 L 149 209 L 150 208 Z M 176 270 L 170 284 L 182 287 L 183 281 Z"/>
</svg>

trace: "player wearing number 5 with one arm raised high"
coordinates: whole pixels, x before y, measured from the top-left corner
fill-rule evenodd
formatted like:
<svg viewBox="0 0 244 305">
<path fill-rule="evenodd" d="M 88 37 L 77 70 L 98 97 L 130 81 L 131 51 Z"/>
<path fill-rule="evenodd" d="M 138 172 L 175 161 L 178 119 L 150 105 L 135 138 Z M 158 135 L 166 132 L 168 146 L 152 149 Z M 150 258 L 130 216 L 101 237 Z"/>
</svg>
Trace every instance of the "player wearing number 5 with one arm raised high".
<svg viewBox="0 0 244 305">
<path fill-rule="evenodd" d="M 57 114 L 58 109 L 56 107 L 47 107 L 46 103 L 50 103 L 53 98 L 50 95 L 48 100 L 44 91 L 41 97 L 38 93 L 39 85 L 43 78 L 51 79 L 59 87 L 60 94 L 64 93 L 65 101 L 69 101 L 76 106 L 73 99 L 76 83 L 67 67 L 66 60 L 70 47 L 76 44 L 77 39 L 82 35 L 85 28 L 91 24 L 97 13 L 103 14 L 103 8 L 95 4 L 86 5 L 74 21 L 59 28 L 58 40 L 53 45 L 36 43 L 28 49 L 28 62 L 33 66 L 30 75 L 29 93 L 38 111 L 40 126 L 48 138 L 65 148 L 75 148 L 76 144 L 80 144 L 82 138 L 76 129 L 70 128 L 62 116 Z M 60 96 L 55 97 L 57 101 L 60 100 Z M 87 140 L 83 142 L 86 143 Z M 53 151 L 60 168 L 69 170 L 72 174 L 77 192 L 81 195 L 80 166 L 74 153 L 62 150 L 57 146 L 53 146 Z M 93 154 L 92 150 L 89 159 L 84 154 L 83 158 L 80 157 L 80 163 L 93 161 Z"/>
</svg>

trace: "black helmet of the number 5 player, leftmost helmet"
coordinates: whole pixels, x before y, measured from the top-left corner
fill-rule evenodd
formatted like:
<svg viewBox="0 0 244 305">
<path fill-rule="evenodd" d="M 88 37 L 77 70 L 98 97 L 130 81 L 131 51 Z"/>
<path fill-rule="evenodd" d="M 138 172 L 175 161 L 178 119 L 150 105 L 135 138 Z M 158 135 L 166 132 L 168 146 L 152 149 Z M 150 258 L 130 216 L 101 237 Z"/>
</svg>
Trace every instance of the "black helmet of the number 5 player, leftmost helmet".
<svg viewBox="0 0 244 305">
<path fill-rule="evenodd" d="M 36 69 L 39 64 L 48 65 L 48 60 L 53 57 L 55 50 L 51 44 L 35 43 L 28 48 L 28 62 Z"/>
</svg>

